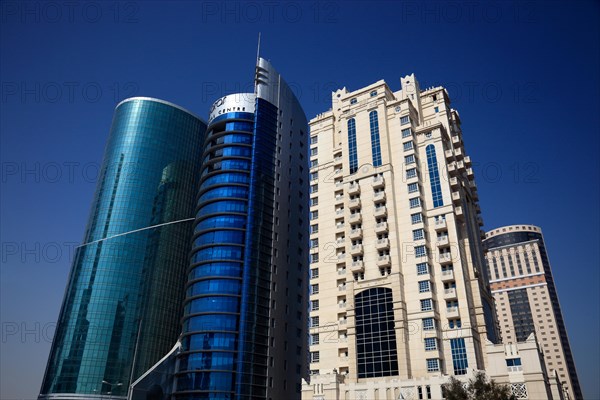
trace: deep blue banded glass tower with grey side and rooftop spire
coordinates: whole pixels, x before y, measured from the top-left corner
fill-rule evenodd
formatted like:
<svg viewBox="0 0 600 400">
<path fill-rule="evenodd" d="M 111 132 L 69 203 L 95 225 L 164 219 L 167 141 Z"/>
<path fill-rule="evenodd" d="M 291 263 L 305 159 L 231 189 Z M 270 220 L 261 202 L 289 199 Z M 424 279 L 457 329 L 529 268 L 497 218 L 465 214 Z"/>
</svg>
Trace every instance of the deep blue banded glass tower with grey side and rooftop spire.
<svg viewBox="0 0 600 400">
<path fill-rule="evenodd" d="M 306 116 L 259 58 L 213 105 L 186 285 L 177 399 L 293 399 L 306 377 Z"/>
</svg>

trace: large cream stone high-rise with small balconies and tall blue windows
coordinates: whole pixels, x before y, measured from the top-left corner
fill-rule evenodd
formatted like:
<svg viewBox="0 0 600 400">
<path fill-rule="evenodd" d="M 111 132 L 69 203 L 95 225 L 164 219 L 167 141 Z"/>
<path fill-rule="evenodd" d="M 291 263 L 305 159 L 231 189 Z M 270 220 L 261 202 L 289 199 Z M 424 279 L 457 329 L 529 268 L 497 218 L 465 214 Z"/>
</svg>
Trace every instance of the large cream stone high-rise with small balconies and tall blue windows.
<svg viewBox="0 0 600 400">
<path fill-rule="evenodd" d="M 310 121 L 313 375 L 463 375 L 496 341 L 458 112 L 443 87 L 401 85 L 337 90 Z"/>
</svg>

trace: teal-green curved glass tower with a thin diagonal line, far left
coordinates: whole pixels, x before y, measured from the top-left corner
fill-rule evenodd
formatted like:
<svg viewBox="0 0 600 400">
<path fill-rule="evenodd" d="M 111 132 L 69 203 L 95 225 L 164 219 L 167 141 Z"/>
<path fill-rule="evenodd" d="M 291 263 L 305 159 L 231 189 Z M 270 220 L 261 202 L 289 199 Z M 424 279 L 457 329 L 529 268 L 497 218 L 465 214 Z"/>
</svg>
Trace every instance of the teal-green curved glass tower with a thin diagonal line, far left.
<svg viewBox="0 0 600 400">
<path fill-rule="evenodd" d="M 40 398 L 123 399 L 177 341 L 205 130 L 165 101 L 117 105 Z"/>
</svg>

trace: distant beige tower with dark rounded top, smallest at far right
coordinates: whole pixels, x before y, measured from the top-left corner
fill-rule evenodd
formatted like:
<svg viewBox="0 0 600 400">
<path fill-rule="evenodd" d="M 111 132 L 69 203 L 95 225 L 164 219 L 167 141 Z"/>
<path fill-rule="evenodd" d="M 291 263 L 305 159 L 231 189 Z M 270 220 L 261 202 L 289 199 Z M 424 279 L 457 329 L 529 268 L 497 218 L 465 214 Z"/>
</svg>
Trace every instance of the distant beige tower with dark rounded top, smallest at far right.
<svg viewBox="0 0 600 400">
<path fill-rule="evenodd" d="M 484 246 L 502 341 L 534 333 L 548 372 L 557 371 L 570 399 L 583 399 L 542 230 L 504 226 L 487 232 Z"/>
</svg>

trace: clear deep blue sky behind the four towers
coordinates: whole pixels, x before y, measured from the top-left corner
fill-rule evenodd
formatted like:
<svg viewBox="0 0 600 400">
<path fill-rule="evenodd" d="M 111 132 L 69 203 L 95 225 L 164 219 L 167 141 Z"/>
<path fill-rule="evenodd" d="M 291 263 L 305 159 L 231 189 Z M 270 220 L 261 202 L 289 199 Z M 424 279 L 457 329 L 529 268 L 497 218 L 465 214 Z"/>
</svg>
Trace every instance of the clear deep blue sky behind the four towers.
<svg viewBox="0 0 600 400">
<path fill-rule="evenodd" d="M 542 227 L 586 399 L 599 399 L 599 15 L 577 2 L 1 3 L 0 398 L 33 399 L 116 103 L 206 116 L 261 54 L 309 118 L 331 91 L 448 87 L 485 229 Z"/>
</svg>

